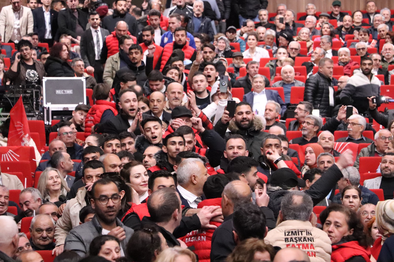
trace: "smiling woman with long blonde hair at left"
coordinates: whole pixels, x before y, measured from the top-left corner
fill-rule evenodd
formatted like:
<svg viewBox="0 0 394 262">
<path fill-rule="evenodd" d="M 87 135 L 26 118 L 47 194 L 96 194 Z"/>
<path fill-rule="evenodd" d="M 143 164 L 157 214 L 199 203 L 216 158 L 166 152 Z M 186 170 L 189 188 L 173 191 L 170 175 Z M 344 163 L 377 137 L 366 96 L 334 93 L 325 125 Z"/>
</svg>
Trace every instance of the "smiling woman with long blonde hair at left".
<svg viewBox="0 0 394 262">
<path fill-rule="evenodd" d="M 44 201 L 55 203 L 58 206 L 65 203 L 70 191 L 59 170 L 51 167 L 46 168 L 41 173 L 37 189 L 43 196 Z"/>
</svg>

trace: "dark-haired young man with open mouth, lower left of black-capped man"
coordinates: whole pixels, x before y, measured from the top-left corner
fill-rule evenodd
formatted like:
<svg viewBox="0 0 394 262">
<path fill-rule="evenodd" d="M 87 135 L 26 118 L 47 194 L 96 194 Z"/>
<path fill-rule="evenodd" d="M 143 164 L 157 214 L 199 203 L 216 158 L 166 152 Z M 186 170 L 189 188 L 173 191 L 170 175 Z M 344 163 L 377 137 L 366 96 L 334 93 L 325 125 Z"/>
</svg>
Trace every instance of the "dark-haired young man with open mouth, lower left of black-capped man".
<svg viewBox="0 0 394 262">
<path fill-rule="evenodd" d="M 163 135 L 165 129 L 162 126 L 162 120 L 157 116 L 147 116 L 142 120 L 141 127 L 144 131 L 143 135 L 140 135 L 136 139 L 135 148 L 137 154 L 141 155 L 145 152 L 149 146 L 157 146 L 161 148 L 163 146 Z"/>
</svg>

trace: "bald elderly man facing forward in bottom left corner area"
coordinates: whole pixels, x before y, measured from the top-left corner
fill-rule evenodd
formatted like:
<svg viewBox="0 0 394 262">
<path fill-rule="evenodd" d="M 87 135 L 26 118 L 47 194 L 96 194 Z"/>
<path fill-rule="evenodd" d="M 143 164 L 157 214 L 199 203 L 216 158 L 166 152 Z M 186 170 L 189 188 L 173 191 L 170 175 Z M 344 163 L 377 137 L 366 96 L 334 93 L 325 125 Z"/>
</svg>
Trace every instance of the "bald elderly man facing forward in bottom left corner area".
<svg viewBox="0 0 394 262">
<path fill-rule="evenodd" d="M 30 224 L 30 245 L 33 250 L 52 250 L 55 234 L 55 221 L 47 214 L 39 214 L 33 217 Z"/>
</svg>

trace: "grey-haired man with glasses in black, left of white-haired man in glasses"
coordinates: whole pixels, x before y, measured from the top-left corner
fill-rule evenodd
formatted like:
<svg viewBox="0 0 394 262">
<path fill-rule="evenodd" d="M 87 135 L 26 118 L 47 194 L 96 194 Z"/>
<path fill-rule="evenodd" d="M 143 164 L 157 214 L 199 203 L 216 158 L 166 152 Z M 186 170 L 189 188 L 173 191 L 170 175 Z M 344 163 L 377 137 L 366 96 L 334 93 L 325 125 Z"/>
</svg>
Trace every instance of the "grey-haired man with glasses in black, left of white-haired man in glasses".
<svg viewBox="0 0 394 262">
<path fill-rule="evenodd" d="M 300 146 L 317 143 L 317 133 L 322 129 L 323 120 L 319 116 L 309 114 L 305 116 L 305 121 L 302 123 L 302 137 L 297 137 L 290 140 L 290 144 L 299 144 Z"/>
</svg>

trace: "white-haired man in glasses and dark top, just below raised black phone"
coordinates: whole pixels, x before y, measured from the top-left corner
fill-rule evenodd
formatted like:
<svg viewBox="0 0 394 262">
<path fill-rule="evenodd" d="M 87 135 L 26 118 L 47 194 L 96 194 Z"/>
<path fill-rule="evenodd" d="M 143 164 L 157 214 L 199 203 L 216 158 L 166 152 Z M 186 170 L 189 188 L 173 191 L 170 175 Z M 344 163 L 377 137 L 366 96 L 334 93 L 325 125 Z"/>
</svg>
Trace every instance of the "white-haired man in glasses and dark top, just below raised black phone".
<svg viewBox="0 0 394 262">
<path fill-rule="evenodd" d="M 364 116 L 359 114 L 353 114 L 348 118 L 348 137 L 342 137 L 336 140 L 336 142 L 353 142 L 356 144 L 361 143 L 372 143 L 370 138 L 364 137 L 362 132 L 364 132 L 367 122 Z"/>
</svg>

